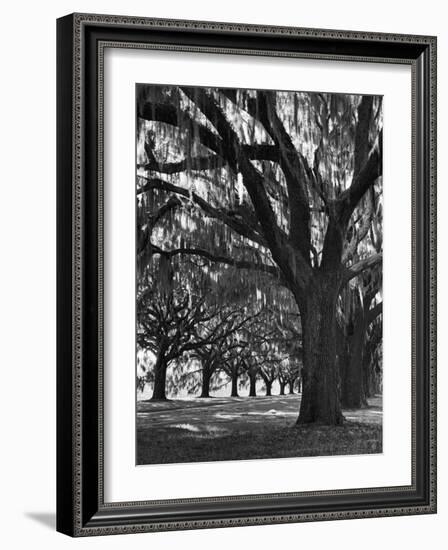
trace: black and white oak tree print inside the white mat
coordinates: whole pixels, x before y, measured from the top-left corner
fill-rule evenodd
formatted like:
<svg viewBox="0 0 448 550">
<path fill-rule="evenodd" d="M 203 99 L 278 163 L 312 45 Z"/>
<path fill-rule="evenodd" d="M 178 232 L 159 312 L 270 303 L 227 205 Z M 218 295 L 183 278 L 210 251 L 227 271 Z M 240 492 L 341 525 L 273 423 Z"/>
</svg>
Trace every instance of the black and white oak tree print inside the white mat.
<svg viewBox="0 0 448 550">
<path fill-rule="evenodd" d="M 382 134 L 380 95 L 136 85 L 138 465 L 382 453 Z"/>
</svg>

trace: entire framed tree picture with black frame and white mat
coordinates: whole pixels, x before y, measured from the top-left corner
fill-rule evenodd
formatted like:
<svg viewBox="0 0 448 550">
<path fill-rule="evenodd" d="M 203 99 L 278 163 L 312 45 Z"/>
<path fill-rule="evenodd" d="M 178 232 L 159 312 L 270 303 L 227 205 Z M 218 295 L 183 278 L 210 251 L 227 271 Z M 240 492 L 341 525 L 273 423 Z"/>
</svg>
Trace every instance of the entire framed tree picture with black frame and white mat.
<svg viewBox="0 0 448 550">
<path fill-rule="evenodd" d="M 57 41 L 57 529 L 435 513 L 436 38 Z"/>
</svg>

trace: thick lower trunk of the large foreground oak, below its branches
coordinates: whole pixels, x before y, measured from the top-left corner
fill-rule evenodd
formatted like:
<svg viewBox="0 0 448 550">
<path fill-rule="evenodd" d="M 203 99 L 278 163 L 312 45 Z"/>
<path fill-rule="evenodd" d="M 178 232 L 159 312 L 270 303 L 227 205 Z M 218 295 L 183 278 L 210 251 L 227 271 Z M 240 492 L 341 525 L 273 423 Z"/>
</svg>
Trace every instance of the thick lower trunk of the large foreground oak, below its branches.
<svg viewBox="0 0 448 550">
<path fill-rule="evenodd" d="M 303 392 L 298 424 L 340 425 L 340 378 L 336 356 L 337 275 L 313 282 L 301 308 Z"/>
</svg>

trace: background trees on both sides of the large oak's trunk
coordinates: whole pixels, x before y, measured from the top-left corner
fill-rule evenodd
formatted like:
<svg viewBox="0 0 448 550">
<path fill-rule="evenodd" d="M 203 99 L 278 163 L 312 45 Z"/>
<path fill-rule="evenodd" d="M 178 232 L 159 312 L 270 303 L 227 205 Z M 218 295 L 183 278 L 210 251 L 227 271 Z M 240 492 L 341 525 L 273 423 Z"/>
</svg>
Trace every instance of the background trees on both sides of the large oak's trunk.
<svg viewBox="0 0 448 550">
<path fill-rule="evenodd" d="M 153 267 L 160 272 L 160 262 L 155 261 Z M 230 301 L 227 296 L 226 304 L 207 299 L 225 289 L 213 288 L 211 279 L 205 281 L 197 265 L 189 267 L 196 271 L 192 277 L 196 289 L 182 287 L 173 274 L 171 284 L 165 287 L 161 281 L 167 279 L 160 273 L 150 279 L 146 272 L 137 310 L 137 342 L 140 351 L 146 352 L 140 356 L 138 388 L 143 391 L 146 384 L 151 385 L 153 400 L 181 392 L 210 397 L 211 392 L 229 384 L 232 397 L 243 387 L 255 397 L 257 381 L 262 382 L 267 396 L 276 381 L 280 395 L 292 394 L 294 389 L 301 392 L 303 350 L 297 313 L 285 315 L 284 309 L 273 304 L 250 307 L 247 289 L 238 289 L 237 300 L 234 296 Z M 170 268 L 177 268 L 179 275 L 185 272 L 185 266 L 181 269 L 170 264 Z M 356 287 L 345 293 L 345 314 L 340 309 L 338 358 L 344 407 L 365 406 L 367 397 L 381 391 L 381 304 L 370 308 L 374 292 L 363 296 Z M 279 296 L 276 298 L 278 306 Z"/>
</svg>

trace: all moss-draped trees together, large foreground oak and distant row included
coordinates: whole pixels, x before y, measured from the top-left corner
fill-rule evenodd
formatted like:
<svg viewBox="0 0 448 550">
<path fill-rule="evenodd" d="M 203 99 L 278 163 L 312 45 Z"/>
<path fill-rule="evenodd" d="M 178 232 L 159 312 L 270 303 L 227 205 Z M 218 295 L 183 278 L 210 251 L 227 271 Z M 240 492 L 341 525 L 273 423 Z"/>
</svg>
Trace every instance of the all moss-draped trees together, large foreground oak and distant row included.
<svg viewBox="0 0 448 550">
<path fill-rule="evenodd" d="M 206 388 L 288 365 L 299 422 L 341 423 L 381 380 L 381 98 L 140 85 L 137 115 L 154 398 L 169 365 Z"/>
</svg>

